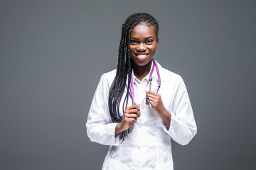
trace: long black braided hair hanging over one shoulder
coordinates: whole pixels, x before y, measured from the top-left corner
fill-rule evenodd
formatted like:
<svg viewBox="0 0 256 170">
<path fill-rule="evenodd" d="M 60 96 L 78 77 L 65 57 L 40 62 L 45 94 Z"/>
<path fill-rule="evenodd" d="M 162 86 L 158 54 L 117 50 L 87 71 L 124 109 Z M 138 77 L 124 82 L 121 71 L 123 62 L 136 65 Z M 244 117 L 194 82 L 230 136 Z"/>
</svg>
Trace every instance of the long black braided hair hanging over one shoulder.
<svg viewBox="0 0 256 170">
<path fill-rule="evenodd" d="M 127 108 L 129 98 L 129 84 L 132 75 L 132 61 L 129 54 L 130 38 L 132 29 L 139 23 L 146 23 L 147 26 L 154 26 L 156 37 L 158 37 L 158 22 L 153 16 L 149 15 L 148 13 L 134 13 L 129 16 L 122 25 L 122 37 L 119 45 L 117 74 L 114 77 L 114 81 L 110 87 L 108 98 L 108 106 L 110 109 L 110 115 L 113 123 L 122 122 L 123 113 L 119 113 L 119 106 L 125 88 L 127 89 L 127 93 L 124 96 L 124 103 L 122 103 L 122 111 L 124 111 L 124 108 Z M 131 126 L 129 130 L 122 132 L 120 135 L 120 139 L 124 140 L 124 137 L 127 135 L 127 133 L 132 131 L 132 128 L 133 126 Z"/>
</svg>

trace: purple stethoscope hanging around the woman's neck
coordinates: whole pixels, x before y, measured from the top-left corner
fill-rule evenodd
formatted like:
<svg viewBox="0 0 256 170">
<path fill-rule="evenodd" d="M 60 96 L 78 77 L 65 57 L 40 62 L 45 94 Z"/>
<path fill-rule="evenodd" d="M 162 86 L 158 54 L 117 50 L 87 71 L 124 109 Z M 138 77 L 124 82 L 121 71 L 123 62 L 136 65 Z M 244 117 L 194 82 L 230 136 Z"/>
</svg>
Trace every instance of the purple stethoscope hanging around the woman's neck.
<svg viewBox="0 0 256 170">
<path fill-rule="evenodd" d="M 156 67 L 158 83 L 159 83 L 159 86 L 157 86 L 157 90 L 156 90 L 156 94 L 157 94 L 159 89 L 160 89 L 160 86 L 161 86 L 161 77 L 160 77 L 160 74 L 159 74 L 159 68 L 158 68 L 158 66 L 156 64 L 156 61 L 154 59 L 152 59 L 152 62 L 153 62 L 153 67 L 152 67 L 151 72 L 149 74 L 149 91 L 151 91 L 152 74 L 154 72 L 154 67 Z M 133 86 L 132 74 L 131 74 L 131 81 L 130 81 L 129 89 L 130 89 L 130 94 L 131 94 L 131 97 L 132 97 L 132 106 L 134 106 L 135 105 L 135 101 L 134 101 L 134 86 Z M 146 97 L 146 100 L 149 102 L 149 97 Z M 149 102 L 149 106 L 150 106 L 150 108 L 153 108 L 150 102 Z"/>
</svg>

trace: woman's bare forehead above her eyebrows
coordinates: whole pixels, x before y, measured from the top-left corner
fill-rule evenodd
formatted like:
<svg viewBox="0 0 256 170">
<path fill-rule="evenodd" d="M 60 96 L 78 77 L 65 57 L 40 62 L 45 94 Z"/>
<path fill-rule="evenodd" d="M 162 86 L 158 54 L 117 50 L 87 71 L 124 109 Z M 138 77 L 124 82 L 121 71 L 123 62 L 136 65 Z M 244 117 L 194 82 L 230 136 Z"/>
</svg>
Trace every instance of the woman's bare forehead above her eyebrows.
<svg viewBox="0 0 256 170">
<path fill-rule="evenodd" d="M 131 37 L 134 38 L 146 38 L 146 37 L 156 37 L 154 26 L 147 26 L 145 23 L 139 23 L 132 30 Z"/>
</svg>

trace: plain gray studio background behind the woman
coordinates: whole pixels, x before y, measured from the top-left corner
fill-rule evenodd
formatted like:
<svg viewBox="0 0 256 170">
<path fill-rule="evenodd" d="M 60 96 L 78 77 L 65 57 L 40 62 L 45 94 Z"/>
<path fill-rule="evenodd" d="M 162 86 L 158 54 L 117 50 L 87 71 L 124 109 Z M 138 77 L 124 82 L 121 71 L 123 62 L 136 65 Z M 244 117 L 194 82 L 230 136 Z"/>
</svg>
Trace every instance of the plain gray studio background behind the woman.
<svg viewBox="0 0 256 170">
<path fill-rule="evenodd" d="M 155 59 L 181 74 L 198 134 L 174 168 L 256 169 L 255 1 L 0 2 L 0 169 L 101 169 L 85 122 L 117 65 L 124 20 L 160 25 Z"/>
</svg>

